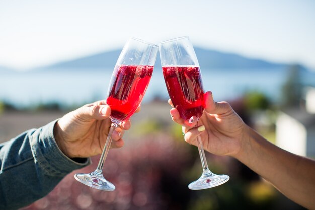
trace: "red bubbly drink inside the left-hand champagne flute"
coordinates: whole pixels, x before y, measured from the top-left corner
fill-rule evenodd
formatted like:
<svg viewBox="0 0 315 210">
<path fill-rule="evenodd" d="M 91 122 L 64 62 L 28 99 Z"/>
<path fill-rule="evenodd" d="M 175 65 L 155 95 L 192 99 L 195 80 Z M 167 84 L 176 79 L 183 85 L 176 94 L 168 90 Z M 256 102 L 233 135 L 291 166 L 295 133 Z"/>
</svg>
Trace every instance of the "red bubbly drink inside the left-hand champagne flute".
<svg viewBox="0 0 315 210">
<path fill-rule="evenodd" d="M 140 105 L 150 82 L 153 66 L 117 65 L 109 86 L 107 105 L 111 118 L 124 121 L 129 119 Z"/>
</svg>

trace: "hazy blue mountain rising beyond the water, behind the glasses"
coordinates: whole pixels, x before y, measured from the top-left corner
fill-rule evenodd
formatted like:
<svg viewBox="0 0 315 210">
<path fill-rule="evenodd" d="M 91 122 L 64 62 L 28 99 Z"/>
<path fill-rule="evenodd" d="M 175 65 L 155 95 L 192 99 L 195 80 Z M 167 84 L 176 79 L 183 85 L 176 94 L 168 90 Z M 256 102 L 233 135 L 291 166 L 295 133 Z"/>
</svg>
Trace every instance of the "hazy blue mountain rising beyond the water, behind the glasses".
<svg viewBox="0 0 315 210">
<path fill-rule="evenodd" d="M 232 53 L 223 53 L 214 50 L 195 47 L 199 65 L 202 69 L 255 69 L 255 68 L 280 68 L 287 64 L 273 63 L 261 59 L 243 57 Z M 98 53 L 78 59 L 59 62 L 53 65 L 37 68 L 49 69 L 112 69 L 114 68 L 121 49 Z M 155 67 L 161 67 L 160 58 L 156 59 Z"/>
</svg>

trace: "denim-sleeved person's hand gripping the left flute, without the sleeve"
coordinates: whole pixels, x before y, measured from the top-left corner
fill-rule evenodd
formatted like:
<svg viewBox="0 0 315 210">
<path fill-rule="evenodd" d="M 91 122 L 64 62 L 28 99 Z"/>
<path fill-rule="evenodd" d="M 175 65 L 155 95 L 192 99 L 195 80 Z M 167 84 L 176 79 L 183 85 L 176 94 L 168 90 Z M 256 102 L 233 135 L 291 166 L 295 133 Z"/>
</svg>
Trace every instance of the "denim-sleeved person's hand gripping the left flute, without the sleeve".
<svg viewBox="0 0 315 210">
<path fill-rule="evenodd" d="M 137 111 L 139 111 L 140 107 Z M 105 101 L 84 105 L 60 118 L 54 136 L 61 151 L 70 158 L 91 157 L 102 153 L 111 126 L 111 109 Z M 124 130 L 131 126 L 125 121 L 112 134 L 112 148 L 124 145 Z"/>
</svg>

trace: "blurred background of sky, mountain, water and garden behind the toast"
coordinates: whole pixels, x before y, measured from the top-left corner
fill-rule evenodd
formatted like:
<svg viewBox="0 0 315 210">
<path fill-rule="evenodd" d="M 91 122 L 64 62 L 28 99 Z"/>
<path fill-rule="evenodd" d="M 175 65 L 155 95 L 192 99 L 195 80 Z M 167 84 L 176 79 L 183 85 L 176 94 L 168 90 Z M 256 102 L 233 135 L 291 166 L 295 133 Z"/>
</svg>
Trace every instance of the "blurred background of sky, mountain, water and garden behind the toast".
<svg viewBox="0 0 315 210">
<path fill-rule="evenodd" d="M 0 1 L 0 142 L 105 99 L 129 37 L 189 36 L 216 101 L 270 142 L 314 158 L 313 11 L 310 0 Z M 198 150 L 171 121 L 163 81 L 157 58 L 125 146 L 105 162 L 114 192 L 86 187 L 73 172 L 25 209 L 303 209 L 237 160 L 209 153 L 211 171 L 229 182 L 189 190 L 201 174 Z"/>
</svg>

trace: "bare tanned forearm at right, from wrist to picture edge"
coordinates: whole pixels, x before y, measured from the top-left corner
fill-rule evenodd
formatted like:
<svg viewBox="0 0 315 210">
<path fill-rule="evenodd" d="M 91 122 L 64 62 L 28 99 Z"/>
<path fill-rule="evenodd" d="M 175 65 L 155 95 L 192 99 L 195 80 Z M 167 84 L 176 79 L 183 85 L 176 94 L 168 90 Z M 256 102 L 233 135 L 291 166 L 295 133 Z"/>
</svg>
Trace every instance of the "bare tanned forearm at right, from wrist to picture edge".
<svg viewBox="0 0 315 210">
<path fill-rule="evenodd" d="M 315 206 L 315 161 L 294 155 L 268 142 L 247 127 L 242 149 L 234 157 L 271 182 L 296 203 Z"/>
</svg>

